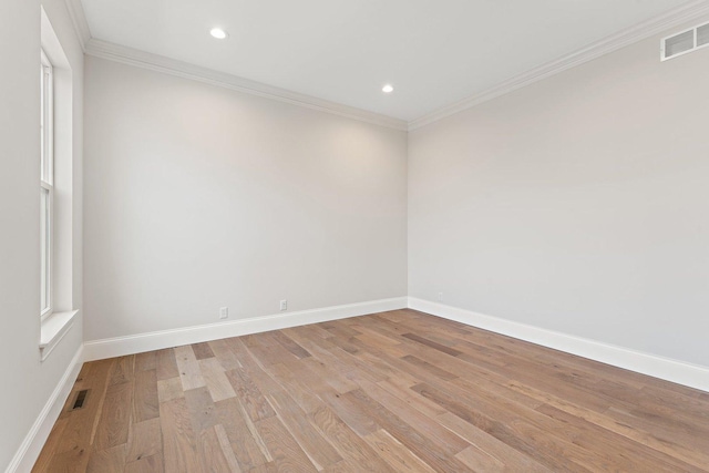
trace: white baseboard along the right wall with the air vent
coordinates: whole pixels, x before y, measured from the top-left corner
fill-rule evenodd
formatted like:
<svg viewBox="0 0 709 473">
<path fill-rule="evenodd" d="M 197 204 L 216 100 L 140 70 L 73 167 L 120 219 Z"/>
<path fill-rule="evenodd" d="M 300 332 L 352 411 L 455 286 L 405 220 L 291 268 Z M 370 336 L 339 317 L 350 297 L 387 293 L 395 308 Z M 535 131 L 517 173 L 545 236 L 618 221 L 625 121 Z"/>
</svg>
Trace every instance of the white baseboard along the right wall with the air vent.
<svg viewBox="0 0 709 473">
<path fill-rule="evenodd" d="M 409 308 L 709 392 L 708 367 L 690 364 L 414 297 L 409 298 Z"/>
</svg>

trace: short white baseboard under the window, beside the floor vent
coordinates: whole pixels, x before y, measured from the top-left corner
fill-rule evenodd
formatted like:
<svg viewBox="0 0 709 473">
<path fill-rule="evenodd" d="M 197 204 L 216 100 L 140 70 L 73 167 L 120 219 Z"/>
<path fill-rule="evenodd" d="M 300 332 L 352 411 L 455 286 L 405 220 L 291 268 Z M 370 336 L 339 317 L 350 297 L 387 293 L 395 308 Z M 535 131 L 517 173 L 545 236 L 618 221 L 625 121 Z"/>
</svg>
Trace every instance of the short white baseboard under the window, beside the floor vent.
<svg viewBox="0 0 709 473">
<path fill-rule="evenodd" d="M 14 454 L 14 457 L 8 465 L 6 473 L 24 473 L 32 470 L 34 462 L 37 462 L 37 459 L 44 446 L 44 442 L 47 442 L 47 439 L 54 426 L 54 422 L 56 422 L 56 419 L 64 407 L 64 401 L 66 401 L 66 398 L 74 385 L 74 381 L 76 380 L 76 376 L 79 376 L 82 363 L 83 346 L 79 347 L 79 350 L 76 350 L 76 354 L 72 358 L 64 376 L 62 376 L 62 379 L 56 384 L 56 388 L 54 388 L 52 395 L 50 395 L 47 404 L 44 404 L 44 408 L 32 424 L 30 432 L 22 441 L 22 444 Z"/>
</svg>

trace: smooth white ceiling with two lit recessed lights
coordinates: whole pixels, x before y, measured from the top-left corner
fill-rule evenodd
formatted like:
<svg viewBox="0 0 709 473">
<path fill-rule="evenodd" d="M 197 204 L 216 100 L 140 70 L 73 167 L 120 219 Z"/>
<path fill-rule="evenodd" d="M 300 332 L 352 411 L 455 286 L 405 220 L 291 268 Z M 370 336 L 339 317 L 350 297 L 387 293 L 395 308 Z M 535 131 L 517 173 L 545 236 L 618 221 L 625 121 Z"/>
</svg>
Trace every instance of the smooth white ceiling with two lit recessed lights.
<svg viewBox="0 0 709 473">
<path fill-rule="evenodd" d="M 93 38 L 412 121 L 686 0 L 82 3 Z"/>
</svg>

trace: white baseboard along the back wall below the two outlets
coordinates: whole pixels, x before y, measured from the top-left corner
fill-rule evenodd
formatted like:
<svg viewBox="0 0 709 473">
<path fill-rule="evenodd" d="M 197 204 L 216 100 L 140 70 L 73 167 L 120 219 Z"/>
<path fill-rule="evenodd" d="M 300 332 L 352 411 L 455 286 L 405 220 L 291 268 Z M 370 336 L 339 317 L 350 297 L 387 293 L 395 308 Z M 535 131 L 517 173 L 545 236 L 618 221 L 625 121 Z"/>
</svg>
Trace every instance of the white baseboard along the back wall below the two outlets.
<svg viewBox="0 0 709 473">
<path fill-rule="evenodd" d="M 254 317 L 222 323 L 107 338 L 84 342 L 84 357 L 86 361 L 101 360 L 104 358 L 178 347 L 181 345 L 198 343 L 405 308 L 407 297 L 395 297 L 393 299 L 372 300 L 346 306 L 332 306 L 320 309 L 300 310 L 298 312 Z"/>
</svg>

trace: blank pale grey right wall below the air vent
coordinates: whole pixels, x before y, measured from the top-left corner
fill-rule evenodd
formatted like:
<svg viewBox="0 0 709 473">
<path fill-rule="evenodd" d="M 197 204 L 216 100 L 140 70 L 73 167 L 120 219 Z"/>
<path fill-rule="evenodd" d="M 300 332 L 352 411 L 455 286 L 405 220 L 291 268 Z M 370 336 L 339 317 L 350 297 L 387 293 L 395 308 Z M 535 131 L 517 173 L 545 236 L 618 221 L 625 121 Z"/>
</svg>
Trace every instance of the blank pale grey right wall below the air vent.
<svg viewBox="0 0 709 473">
<path fill-rule="evenodd" d="M 658 37 L 410 133 L 409 295 L 709 366 L 707 78 Z"/>
</svg>

